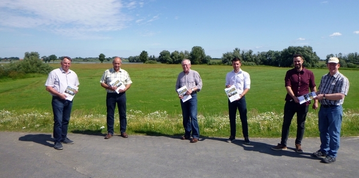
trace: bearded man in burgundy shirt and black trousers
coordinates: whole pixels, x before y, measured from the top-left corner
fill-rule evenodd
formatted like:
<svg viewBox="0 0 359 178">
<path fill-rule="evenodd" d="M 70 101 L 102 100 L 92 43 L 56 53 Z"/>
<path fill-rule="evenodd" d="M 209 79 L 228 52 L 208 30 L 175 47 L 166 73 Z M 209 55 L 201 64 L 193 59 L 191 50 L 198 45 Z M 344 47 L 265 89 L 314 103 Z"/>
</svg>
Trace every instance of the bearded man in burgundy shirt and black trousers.
<svg viewBox="0 0 359 178">
<path fill-rule="evenodd" d="M 304 135 L 305 118 L 308 113 L 310 100 L 299 104 L 298 97 L 311 92 L 317 92 L 316 83 L 313 72 L 307 70 L 302 66 L 303 58 L 300 54 L 293 55 L 294 68 L 288 70 L 284 81 L 287 95 L 285 97 L 284 116 L 282 125 L 282 137 L 277 146 L 272 147 L 272 150 L 286 150 L 287 140 L 289 135 L 289 126 L 292 122 L 293 116 L 297 113 L 297 138 L 296 138 L 296 152 L 303 153 L 301 149 L 301 140 Z M 314 100 L 313 109 L 318 108 L 318 100 Z"/>
</svg>

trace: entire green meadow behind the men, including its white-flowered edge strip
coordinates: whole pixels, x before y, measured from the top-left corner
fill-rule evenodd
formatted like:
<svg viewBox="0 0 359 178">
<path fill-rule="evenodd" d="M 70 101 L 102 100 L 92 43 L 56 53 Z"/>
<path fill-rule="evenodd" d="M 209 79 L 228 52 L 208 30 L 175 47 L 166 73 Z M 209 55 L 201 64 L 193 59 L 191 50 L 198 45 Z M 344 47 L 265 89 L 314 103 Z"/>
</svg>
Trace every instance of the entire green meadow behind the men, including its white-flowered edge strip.
<svg viewBox="0 0 359 178">
<path fill-rule="evenodd" d="M 60 67 L 59 63 L 50 64 Z M 79 93 L 74 98 L 69 131 L 74 133 L 106 133 L 106 91 L 100 86 L 103 72 L 111 63 L 73 63 L 80 80 Z M 126 92 L 129 134 L 181 135 L 180 100 L 175 91 L 180 64 L 124 63 L 133 81 Z M 289 68 L 242 66 L 251 76 L 251 89 L 246 95 L 250 137 L 280 137 L 282 110 L 286 90 L 285 72 Z M 224 92 L 225 75 L 232 66 L 192 65 L 199 72 L 203 87 L 198 94 L 200 134 L 204 137 L 228 137 L 229 119 Z M 310 69 L 319 85 L 327 69 Z M 340 70 L 350 81 L 343 108 L 342 136 L 359 135 L 359 71 Z M 47 76 L 27 79 L 0 80 L 0 130 L 52 132 L 51 96 L 45 90 Z M 318 110 L 310 109 L 305 137 L 318 137 Z M 118 117 L 118 114 L 117 114 Z M 295 137 L 296 117 L 291 125 Z M 118 119 L 116 120 L 118 122 Z M 240 120 L 237 122 L 241 135 Z M 116 126 L 117 133 L 119 126 Z"/>
</svg>

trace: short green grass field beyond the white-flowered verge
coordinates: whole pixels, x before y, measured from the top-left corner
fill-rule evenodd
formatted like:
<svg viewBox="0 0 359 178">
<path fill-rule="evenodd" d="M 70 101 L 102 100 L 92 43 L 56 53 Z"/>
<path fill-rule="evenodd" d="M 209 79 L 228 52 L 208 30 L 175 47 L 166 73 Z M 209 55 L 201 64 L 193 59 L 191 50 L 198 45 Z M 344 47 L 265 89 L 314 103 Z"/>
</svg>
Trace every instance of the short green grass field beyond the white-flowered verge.
<svg viewBox="0 0 359 178">
<path fill-rule="evenodd" d="M 60 64 L 50 64 L 59 67 Z M 111 63 L 74 63 L 74 70 L 80 79 L 79 94 L 74 99 L 74 111 L 105 113 L 105 90 L 100 86 L 100 78 Z M 178 74 L 182 71 L 180 64 L 123 64 L 122 68 L 130 74 L 133 84 L 127 91 L 127 108 L 144 113 L 158 110 L 169 114 L 180 114 L 180 101 L 175 92 Z M 202 115 L 227 114 L 227 98 L 224 93 L 225 75 L 232 66 L 192 65 L 203 80 L 202 91 L 198 95 L 198 110 Z M 282 112 L 284 97 L 284 75 L 289 68 L 268 66 L 242 66 L 251 76 L 251 89 L 246 95 L 249 111 L 263 113 Z M 316 83 L 327 69 L 311 69 L 316 76 Z M 350 81 L 349 94 L 345 98 L 345 109 L 358 111 L 359 107 L 359 71 L 341 70 Z M 31 109 L 51 111 L 51 97 L 45 91 L 47 76 L 0 81 L 0 108 Z M 312 111 L 311 111 L 312 112 Z"/>
</svg>

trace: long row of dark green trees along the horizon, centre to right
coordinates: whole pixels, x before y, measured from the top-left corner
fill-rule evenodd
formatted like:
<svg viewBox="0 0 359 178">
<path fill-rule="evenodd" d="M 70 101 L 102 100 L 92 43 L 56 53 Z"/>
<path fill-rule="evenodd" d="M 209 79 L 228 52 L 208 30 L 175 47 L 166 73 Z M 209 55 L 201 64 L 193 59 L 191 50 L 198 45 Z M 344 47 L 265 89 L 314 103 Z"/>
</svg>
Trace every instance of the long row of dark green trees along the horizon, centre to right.
<svg viewBox="0 0 359 178">
<path fill-rule="evenodd" d="M 159 56 L 148 56 L 146 51 L 142 51 L 140 56 L 130 56 L 129 62 L 143 62 L 143 63 L 166 63 L 179 64 L 182 59 L 190 59 L 192 64 L 208 64 L 208 65 L 230 65 L 231 60 L 235 57 L 241 59 L 244 65 L 269 65 L 277 67 L 291 67 L 293 64 L 293 55 L 301 54 L 304 59 L 303 65 L 305 67 L 326 67 L 325 64 L 319 64 L 320 58 L 317 53 L 313 51 L 311 46 L 289 46 L 282 51 L 269 50 L 267 52 L 254 53 L 252 50 L 240 50 L 235 48 L 232 52 L 222 54 L 222 58 L 213 61 L 212 58 L 205 54 L 204 49 L 200 46 L 194 46 L 192 51 L 174 51 L 169 52 L 163 50 Z M 348 55 L 327 55 L 326 61 L 331 57 L 339 58 L 339 63 L 342 67 L 359 68 L 359 55 L 357 52 L 349 53 Z"/>
</svg>

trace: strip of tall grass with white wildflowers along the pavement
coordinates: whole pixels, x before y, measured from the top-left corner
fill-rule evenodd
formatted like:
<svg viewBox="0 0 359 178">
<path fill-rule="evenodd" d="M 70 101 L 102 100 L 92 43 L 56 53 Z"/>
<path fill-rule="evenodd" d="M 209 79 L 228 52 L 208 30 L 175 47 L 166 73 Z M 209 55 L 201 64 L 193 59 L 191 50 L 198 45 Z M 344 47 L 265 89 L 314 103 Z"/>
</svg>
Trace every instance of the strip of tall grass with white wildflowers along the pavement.
<svg viewBox="0 0 359 178">
<path fill-rule="evenodd" d="M 248 113 L 248 128 L 251 137 L 280 137 L 282 113 Z M 166 111 L 143 113 L 129 110 L 127 115 L 127 132 L 136 135 L 177 136 L 184 133 L 181 115 L 170 115 Z M 115 133 L 119 133 L 119 115 L 115 114 Z M 237 116 L 239 118 L 239 116 Z M 228 137 L 230 133 L 229 119 L 224 115 L 198 116 L 200 135 L 202 137 Z M 0 131 L 52 132 L 52 113 L 39 111 L 7 111 L 0 110 Z M 296 119 L 292 120 L 290 136 L 296 136 Z M 318 116 L 307 115 L 305 137 L 318 137 Z M 237 119 L 238 137 L 241 135 L 240 119 Z M 73 113 L 69 132 L 106 134 L 106 115 Z M 341 135 L 358 136 L 359 114 L 345 111 L 343 115 Z"/>
</svg>

